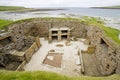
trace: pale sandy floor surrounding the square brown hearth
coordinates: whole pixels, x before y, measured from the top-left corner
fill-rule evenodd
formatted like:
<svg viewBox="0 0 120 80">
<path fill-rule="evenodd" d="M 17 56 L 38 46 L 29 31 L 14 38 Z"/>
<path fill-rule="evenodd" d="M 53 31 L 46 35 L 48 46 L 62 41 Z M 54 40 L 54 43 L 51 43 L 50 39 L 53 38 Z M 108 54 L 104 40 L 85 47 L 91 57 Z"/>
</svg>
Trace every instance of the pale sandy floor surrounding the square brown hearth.
<svg viewBox="0 0 120 80">
<path fill-rule="evenodd" d="M 78 49 L 87 50 L 88 46 L 80 41 L 71 41 L 69 46 L 65 45 L 66 41 L 48 43 L 44 38 L 40 38 L 42 47 L 33 55 L 31 61 L 25 65 L 25 71 L 52 71 L 69 76 L 80 76 L 80 65 L 77 65 Z M 56 45 L 62 44 L 63 47 Z M 62 53 L 61 67 L 54 67 L 44 64 L 44 60 L 50 50 Z"/>
</svg>

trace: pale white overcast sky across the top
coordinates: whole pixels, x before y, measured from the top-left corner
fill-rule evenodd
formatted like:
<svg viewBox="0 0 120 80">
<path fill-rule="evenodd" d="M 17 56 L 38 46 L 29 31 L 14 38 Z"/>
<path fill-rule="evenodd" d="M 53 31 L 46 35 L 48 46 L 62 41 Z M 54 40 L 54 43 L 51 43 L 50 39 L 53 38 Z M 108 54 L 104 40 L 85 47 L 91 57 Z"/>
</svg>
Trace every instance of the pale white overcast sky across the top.
<svg viewBox="0 0 120 80">
<path fill-rule="evenodd" d="M 120 0 L 0 0 L 0 5 L 25 7 L 94 7 L 120 5 Z"/>
</svg>

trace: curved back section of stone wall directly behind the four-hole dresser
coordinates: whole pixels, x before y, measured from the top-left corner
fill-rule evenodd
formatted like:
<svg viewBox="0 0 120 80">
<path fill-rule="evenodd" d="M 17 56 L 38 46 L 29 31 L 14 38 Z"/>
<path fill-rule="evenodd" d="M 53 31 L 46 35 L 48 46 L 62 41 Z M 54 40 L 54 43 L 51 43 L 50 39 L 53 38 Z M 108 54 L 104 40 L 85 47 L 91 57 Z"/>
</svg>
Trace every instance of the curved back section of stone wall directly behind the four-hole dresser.
<svg viewBox="0 0 120 80">
<path fill-rule="evenodd" d="M 78 21 L 69 21 L 69 20 L 44 20 L 44 19 L 33 19 L 31 21 L 24 21 L 15 23 L 9 26 L 9 31 L 11 31 L 13 40 L 21 37 L 24 39 L 26 36 L 39 36 L 39 37 L 48 37 L 49 28 L 52 27 L 68 27 L 71 29 L 71 36 L 74 37 L 86 37 L 86 26 Z M 20 40 L 19 40 L 20 41 Z M 23 43 L 24 44 L 24 43 Z M 22 44 L 21 44 L 22 46 Z"/>
</svg>

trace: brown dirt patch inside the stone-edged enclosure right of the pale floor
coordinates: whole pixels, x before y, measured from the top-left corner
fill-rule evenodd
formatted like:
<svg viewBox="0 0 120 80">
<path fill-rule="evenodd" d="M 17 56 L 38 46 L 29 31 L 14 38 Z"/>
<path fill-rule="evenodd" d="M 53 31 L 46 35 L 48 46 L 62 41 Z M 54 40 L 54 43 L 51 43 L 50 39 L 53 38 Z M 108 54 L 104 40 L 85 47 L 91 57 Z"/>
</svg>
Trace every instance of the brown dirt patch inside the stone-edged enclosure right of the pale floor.
<svg viewBox="0 0 120 80">
<path fill-rule="evenodd" d="M 99 65 L 97 63 L 95 54 L 87 54 L 83 53 L 83 63 L 84 63 L 84 69 L 85 69 L 85 75 L 90 76 L 99 76 Z"/>
</svg>

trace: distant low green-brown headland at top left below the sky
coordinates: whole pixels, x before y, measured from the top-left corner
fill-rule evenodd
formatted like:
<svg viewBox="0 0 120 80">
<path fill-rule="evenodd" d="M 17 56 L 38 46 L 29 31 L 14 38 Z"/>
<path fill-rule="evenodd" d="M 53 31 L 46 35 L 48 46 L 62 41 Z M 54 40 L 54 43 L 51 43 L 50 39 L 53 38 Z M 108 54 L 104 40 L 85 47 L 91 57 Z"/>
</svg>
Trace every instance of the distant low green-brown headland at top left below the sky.
<svg viewBox="0 0 120 80">
<path fill-rule="evenodd" d="M 0 6 L 0 11 L 17 11 L 17 10 L 24 10 L 27 8 L 19 7 L 19 6 Z"/>
</svg>

